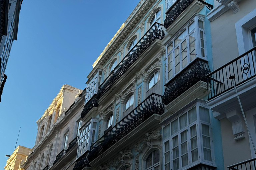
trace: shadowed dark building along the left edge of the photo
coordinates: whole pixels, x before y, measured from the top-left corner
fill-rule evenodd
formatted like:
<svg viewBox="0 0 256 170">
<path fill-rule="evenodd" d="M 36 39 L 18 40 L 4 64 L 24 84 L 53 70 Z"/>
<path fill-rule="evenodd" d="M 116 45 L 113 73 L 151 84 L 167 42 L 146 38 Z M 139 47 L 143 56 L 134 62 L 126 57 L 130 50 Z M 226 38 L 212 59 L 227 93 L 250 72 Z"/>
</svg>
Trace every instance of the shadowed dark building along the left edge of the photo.
<svg viewBox="0 0 256 170">
<path fill-rule="evenodd" d="M 21 0 L 1 0 L 0 25 L 0 101 L 3 85 L 7 76 L 4 74 L 10 56 L 12 42 L 17 40 Z M 2 85 L 3 84 L 3 85 Z"/>
</svg>

